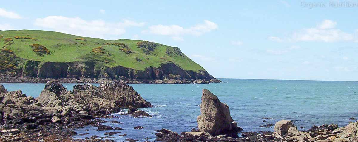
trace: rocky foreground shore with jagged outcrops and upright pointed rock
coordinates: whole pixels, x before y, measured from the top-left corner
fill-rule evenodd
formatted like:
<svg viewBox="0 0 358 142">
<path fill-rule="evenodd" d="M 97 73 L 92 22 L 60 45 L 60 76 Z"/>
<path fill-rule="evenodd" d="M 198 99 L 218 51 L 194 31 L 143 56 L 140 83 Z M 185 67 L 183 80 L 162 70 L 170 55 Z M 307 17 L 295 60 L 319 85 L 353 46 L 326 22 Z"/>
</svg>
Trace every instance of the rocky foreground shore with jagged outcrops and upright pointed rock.
<svg viewBox="0 0 358 142">
<path fill-rule="evenodd" d="M 20 90 L 8 92 L 0 85 L 0 141 L 11 142 L 114 142 L 111 138 L 125 137 L 118 134 L 122 128 L 103 125 L 113 118 L 111 113 L 129 108 L 132 117 L 151 117 L 136 107 L 153 107 L 131 86 L 120 81 L 103 81 L 100 86 L 75 85 L 68 91 L 58 81 L 48 81 L 38 98 L 26 96 Z M 276 122 L 273 132 L 243 132 L 231 118 L 229 106 L 222 103 L 209 90 L 203 89 L 201 114 L 198 127 L 180 135 L 168 129 L 156 130 L 156 141 L 166 142 L 357 142 L 358 122 L 345 127 L 338 125 L 313 126 L 308 131 L 298 131 L 292 121 Z M 352 119 L 353 120 L 353 119 Z M 120 123 L 111 121 L 111 123 Z M 92 136 L 74 139 L 76 128 L 96 127 L 104 137 Z M 134 129 L 142 129 L 137 126 Z M 113 130 L 108 132 L 109 130 Z M 150 142 L 150 138 L 125 141 Z"/>
</svg>

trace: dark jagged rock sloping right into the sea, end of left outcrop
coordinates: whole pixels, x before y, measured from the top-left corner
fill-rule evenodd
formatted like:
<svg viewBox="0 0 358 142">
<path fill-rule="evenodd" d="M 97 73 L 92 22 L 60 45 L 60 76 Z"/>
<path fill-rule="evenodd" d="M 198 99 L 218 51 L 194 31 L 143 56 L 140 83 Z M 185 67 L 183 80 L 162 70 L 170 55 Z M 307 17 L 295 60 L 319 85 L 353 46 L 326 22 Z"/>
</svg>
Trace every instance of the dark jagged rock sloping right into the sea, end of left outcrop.
<svg viewBox="0 0 358 142">
<path fill-rule="evenodd" d="M 122 107 L 152 107 L 150 102 L 142 98 L 133 87 L 118 81 L 102 82 L 100 85 L 103 95 Z"/>
</svg>

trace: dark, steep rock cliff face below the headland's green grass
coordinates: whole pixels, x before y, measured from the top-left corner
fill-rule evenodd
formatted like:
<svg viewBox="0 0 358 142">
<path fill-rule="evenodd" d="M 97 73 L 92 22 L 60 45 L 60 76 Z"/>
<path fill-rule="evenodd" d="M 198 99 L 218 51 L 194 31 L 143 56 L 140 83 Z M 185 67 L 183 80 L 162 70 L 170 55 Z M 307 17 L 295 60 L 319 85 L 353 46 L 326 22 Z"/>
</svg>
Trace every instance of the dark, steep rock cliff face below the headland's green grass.
<svg viewBox="0 0 358 142">
<path fill-rule="evenodd" d="M 193 72 L 184 70 L 174 63 L 161 64 L 160 67 L 147 67 L 144 71 L 115 66 L 98 65 L 97 62 L 39 62 L 28 60 L 22 69 L 24 77 L 40 78 L 108 78 L 108 79 L 138 79 L 138 80 L 211 80 L 213 76 L 207 71 Z"/>
</svg>

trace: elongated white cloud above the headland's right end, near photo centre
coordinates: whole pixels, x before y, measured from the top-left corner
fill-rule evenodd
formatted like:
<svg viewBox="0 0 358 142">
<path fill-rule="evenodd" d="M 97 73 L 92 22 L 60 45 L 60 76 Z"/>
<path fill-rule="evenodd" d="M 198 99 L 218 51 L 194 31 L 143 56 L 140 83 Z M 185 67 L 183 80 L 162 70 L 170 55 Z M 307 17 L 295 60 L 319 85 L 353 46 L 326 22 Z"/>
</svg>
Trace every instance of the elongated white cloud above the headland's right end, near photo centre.
<svg viewBox="0 0 358 142">
<path fill-rule="evenodd" d="M 183 35 L 200 36 L 215 29 L 218 29 L 217 24 L 212 21 L 204 20 L 203 24 L 197 24 L 189 28 L 184 28 L 179 25 L 153 25 L 149 27 L 149 30 L 145 30 L 142 32 L 149 32 L 156 35 L 171 36 L 172 39 L 183 39 L 181 37 Z"/>
</svg>

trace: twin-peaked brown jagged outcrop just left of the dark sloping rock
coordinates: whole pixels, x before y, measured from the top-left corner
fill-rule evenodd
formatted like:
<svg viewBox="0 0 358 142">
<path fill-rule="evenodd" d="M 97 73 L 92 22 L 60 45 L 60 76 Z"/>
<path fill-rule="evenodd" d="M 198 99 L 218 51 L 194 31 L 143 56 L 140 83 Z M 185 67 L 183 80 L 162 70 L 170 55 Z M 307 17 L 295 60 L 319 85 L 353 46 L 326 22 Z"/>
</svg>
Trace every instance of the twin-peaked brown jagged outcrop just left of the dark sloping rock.
<svg viewBox="0 0 358 142">
<path fill-rule="evenodd" d="M 98 87 L 91 84 L 75 85 L 71 92 L 59 82 L 48 81 L 38 102 L 43 107 L 57 108 L 62 115 L 69 115 L 71 111 L 75 111 L 101 116 L 120 110 L 114 102 L 107 100 Z"/>
</svg>

